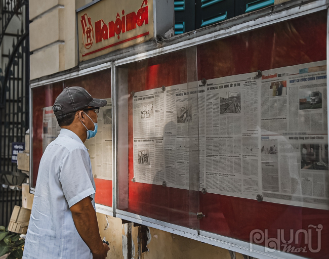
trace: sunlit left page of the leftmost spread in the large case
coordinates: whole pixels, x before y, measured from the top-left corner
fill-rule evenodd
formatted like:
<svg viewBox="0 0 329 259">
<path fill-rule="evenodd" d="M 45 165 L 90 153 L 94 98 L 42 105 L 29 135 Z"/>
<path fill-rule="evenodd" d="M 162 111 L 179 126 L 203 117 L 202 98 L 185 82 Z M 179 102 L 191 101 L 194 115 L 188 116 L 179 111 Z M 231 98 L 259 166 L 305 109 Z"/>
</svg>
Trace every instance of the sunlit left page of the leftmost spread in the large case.
<svg viewBox="0 0 329 259">
<path fill-rule="evenodd" d="M 147 90 L 133 98 L 134 177 L 139 183 L 160 185 L 165 181 L 165 92 Z"/>
</svg>

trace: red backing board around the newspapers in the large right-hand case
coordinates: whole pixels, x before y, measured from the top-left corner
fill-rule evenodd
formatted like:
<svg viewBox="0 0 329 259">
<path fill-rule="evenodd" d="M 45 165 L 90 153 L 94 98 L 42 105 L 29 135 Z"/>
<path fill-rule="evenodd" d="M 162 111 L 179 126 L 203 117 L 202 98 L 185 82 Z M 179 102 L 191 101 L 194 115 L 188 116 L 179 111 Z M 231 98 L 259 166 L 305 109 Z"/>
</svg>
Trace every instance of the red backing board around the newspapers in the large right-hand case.
<svg viewBox="0 0 329 259">
<path fill-rule="evenodd" d="M 193 48 L 190 48 L 193 49 Z M 197 72 L 189 70 L 189 49 L 161 55 L 118 68 L 128 73 L 126 94 L 205 78 L 207 80 L 268 70 L 309 62 L 326 60 L 326 11 L 280 22 L 265 28 L 238 34 L 196 47 Z M 189 78 L 189 79 L 188 79 Z M 120 85 L 120 81 L 119 81 Z M 277 231 L 284 231 L 289 240 L 290 230 L 296 233 L 312 229 L 308 240 L 299 235 L 292 253 L 308 258 L 327 258 L 329 247 L 329 211 L 270 202 L 256 199 L 236 198 L 219 194 L 199 192 L 133 182 L 134 178 L 134 128 L 133 98 L 128 105 L 128 205 L 118 207 L 129 212 L 156 220 L 194 228 L 191 213 L 202 211 L 205 218 L 199 221 L 199 229 L 246 242 L 253 230 L 268 231 L 269 238 L 276 238 Z M 120 105 L 119 105 L 120 109 Z M 120 132 L 118 133 L 120 139 Z M 119 147 L 120 148 L 120 147 Z M 118 157 L 120 163 L 120 157 Z M 124 174 L 118 171 L 118 175 Z M 120 177 L 118 177 L 120 179 Z M 120 183 L 118 184 L 120 186 Z M 118 204 L 121 198 L 118 197 Z M 195 204 L 197 203 L 197 204 Z M 195 217 L 195 216 L 193 216 Z M 322 225 L 321 238 L 310 227 Z M 280 232 L 282 233 L 282 231 Z M 305 233 L 305 232 L 304 232 Z M 282 239 L 281 239 L 282 240 Z M 295 241 L 295 240 L 294 240 Z M 314 250 L 320 242 L 321 249 Z M 278 250 L 282 250 L 280 243 Z M 261 243 L 265 245 L 265 242 Z M 307 249 L 302 249 L 302 248 Z"/>
</svg>

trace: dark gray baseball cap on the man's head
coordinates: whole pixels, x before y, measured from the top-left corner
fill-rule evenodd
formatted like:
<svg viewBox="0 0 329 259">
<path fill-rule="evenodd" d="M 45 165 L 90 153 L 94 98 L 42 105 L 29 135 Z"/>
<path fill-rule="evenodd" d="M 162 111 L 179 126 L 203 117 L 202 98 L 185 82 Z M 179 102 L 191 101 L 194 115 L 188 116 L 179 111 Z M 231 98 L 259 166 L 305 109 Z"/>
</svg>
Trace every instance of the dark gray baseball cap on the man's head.
<svg viewBox="0 0 329 259">
<path fill-rule="evenodd" d="M 55 116 L 59 116 L 83 110 L 88 106 L 104 107 L 106 104 L 106 100 L 93 98 L 87 90 L 82 87 L 67 87 L 55 100 L 54 105 L 59 105 L 62 109 L 60 111 L 55 111 L 54 114 Z"/>
</svg>

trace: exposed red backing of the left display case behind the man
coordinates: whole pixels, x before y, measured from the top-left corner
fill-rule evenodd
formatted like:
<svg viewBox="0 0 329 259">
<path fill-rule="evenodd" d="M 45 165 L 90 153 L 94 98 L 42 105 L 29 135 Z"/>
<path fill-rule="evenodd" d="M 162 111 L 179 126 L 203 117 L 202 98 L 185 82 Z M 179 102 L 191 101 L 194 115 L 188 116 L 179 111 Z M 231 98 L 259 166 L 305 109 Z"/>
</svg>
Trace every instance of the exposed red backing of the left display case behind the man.
<svg viewBox="0 0 329 259">
<path fill-rule="evenodd" d="M 106 69 L 97 73 L 75 77 L 61 82 L 43 85 L 32 89 L 32 183 L 35 188 L 40 159 L 43 155 L 43 108 L 53 106 L 57 96 L 66 87 L 83 87 L 94 98 L 111 98 L 111 70 Z M 108 159 L 112 160 L 112 157 Z M 112 206 L 112 181 L 95 179 L 95 202 Z"/>
</svg>

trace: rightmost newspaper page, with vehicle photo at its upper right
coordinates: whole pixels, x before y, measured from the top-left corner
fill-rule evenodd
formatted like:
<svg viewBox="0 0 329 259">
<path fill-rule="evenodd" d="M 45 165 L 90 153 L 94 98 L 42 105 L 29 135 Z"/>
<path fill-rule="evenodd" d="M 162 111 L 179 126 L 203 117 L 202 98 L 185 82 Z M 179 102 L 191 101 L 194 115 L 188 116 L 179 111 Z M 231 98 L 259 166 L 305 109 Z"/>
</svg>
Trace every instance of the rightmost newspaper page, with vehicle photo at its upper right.
<svg viewBox="0 0 329 259">
<path fill-rule="evenodd" d="M 329 209 L 326 62 L 263 71 L 265 201 Z"/>
</svg>

